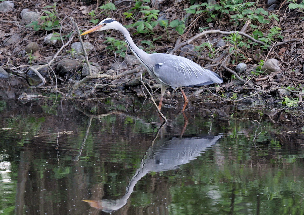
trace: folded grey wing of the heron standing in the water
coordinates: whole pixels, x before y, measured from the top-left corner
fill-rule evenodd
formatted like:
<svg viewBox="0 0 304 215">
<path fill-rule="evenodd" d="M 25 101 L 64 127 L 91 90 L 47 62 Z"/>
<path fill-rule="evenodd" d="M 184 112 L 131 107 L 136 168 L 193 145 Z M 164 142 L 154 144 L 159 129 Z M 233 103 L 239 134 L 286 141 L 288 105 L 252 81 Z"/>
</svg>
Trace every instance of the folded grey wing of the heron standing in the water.
<svg viewBox="0 0 304 215">
<path fill-rule="evenodd" d="M 153 72 L 165 85 L 171 87 L 188 87 L 222 83 L 222 78 L 202 68 L 193 61 L 180 56 L 164 56 L 164 62 L 154 65 Z"/>
</svg>

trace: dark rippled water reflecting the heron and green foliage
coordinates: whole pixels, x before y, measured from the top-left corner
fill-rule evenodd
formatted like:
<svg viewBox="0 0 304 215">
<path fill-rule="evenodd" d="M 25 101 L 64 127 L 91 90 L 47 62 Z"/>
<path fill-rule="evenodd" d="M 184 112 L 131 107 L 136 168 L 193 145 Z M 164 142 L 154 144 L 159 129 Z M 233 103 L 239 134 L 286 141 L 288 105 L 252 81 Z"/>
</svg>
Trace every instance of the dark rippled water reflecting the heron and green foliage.
<svg viewBox="0 0 304 215">
<path fill-rule="evenodd" d="M 303 214 L 304 136 L 284 111 L 204 103 L 160 127 L 132 97 L 0 98 L 0 214 Z"/>
</svg>

